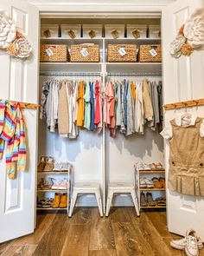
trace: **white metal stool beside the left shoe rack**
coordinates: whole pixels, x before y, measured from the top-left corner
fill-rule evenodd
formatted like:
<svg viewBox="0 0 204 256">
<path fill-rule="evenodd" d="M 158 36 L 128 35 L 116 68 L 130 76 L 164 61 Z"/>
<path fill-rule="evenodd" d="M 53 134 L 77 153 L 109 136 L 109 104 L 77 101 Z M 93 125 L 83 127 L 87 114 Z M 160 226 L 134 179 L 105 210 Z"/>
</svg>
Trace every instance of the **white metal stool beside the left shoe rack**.
<svg viewBox="0 0 204 256">
<path fill-rule="evenodd" d="M 75 185 L 73 186 L 73 195 L 68 214 L 69 217 L 72 217 L 73 207 L 75 206 L 78 194 L 95 194 L 99 206 L 100 217 L 104 216 L 99 183 L 79 182 L 75 183 Z"/>
</svg>

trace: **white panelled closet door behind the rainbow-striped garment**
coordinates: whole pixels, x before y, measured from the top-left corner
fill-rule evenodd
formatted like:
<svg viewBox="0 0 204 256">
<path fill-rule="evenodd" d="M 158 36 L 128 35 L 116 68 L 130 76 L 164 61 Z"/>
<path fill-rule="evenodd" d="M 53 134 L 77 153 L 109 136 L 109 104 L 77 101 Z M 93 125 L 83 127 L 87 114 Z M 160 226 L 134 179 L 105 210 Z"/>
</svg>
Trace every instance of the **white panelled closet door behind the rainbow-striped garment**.
<svg viewBox="0 0 204 256">
<path fill-rule="evenodd" d="M 0 50 L 0 98 L 38 102 L 38 34 L 39 12 L 23 0 L 1 0 L 5 10 L 27 36 L 34 54 L 28 60 L 11 58 Z M 5 155 L 0 161 L 0 243 L 33 233 L 35 228 L 35 172 L 37 145 L 37 111 L 23 110 L 27 134 L 27 167 L 15 180 L 5 170 Z"/>
</svg>

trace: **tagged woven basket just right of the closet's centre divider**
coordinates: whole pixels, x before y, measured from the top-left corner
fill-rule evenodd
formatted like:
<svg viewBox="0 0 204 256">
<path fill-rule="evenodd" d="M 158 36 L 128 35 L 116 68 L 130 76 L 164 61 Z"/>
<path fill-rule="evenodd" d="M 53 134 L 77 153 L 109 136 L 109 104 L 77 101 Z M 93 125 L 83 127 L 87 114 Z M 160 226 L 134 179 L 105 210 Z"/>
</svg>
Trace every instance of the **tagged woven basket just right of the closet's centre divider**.
<svg viewBox="0 0 204 256">
<path fill-rule="evenodd" d="M 124 49 L 124 56 L 121 55 L 120 49 Z M 108 62 L 137 62 L 137 45 L 109 44 L 107 59 Z"/>
</svg>

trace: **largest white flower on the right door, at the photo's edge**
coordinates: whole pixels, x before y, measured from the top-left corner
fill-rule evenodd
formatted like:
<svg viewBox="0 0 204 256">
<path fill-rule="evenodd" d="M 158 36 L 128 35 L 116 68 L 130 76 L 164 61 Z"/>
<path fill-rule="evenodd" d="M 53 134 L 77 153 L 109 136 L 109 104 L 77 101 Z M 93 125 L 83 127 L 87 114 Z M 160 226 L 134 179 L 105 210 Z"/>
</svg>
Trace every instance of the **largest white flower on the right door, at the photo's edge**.
<svg viewBox="0 0 204 256">
<path fill-rule="evenodd" d="M 184 25 L 184 36 L 194 49 L 204 45 L 204 9 L 197 9 Z"/>
</svg>

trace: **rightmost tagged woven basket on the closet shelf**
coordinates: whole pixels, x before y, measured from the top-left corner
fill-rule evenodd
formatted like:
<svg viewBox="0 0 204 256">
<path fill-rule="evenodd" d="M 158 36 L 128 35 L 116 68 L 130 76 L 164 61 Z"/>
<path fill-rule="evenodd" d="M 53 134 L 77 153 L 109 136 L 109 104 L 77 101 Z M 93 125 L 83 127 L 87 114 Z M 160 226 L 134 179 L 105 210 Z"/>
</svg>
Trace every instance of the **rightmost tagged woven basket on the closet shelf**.
<svg viewBox="0 0 204 256">
<path fill-rule="evenodd" d="M 150 53 L 152 49 L 155 50 L 153 55 Z M 154 56 L 155 52 L 156 56 Z M 140 45 L 138 62 L 162 62 L 161 44 Z"/>
</svg>

